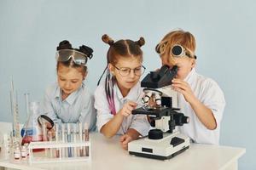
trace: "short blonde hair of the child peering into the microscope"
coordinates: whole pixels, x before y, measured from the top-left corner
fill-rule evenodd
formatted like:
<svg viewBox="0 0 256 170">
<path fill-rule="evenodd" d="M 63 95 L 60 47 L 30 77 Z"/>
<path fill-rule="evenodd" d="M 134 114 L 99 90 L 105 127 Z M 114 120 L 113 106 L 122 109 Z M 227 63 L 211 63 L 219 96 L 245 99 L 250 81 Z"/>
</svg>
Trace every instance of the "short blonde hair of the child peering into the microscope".
<svg viewBox="0 0 256 170">
<path fill-rule="evenodd" d="M 172 56 L 171 50 L 175 44 L 183 46 L 190 56 L 195 56 L 195 37 L 189 31 L 183 31 L 181 29 L 167 33 L 156 45 L 155 51 L 160 54 L 160 56 L 163 54 Z M 170 58 L 172 59 L 172 57 Z"/>
</svg>

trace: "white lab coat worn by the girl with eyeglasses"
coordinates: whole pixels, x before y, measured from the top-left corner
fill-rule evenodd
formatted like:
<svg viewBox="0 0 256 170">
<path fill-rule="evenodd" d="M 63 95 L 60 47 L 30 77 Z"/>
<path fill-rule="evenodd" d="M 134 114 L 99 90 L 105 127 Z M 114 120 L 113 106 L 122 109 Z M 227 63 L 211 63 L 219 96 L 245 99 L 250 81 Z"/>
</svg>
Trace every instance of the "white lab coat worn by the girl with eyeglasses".
<svg viewBox="0 0 256 170">
<path fill-rule="evenodd" d="M 137 104 L 140 104 L 141 99 L 143 97 L 143 88 L 141 88 L 140 82 L 137 82 L 137 84 L 133 88 L 131 88 L 129 94 L 127 94 L 127 96 L 124 98 L 118 86 L 115 84 L 113 86 L 113 96 L 114 96 L 115 110 L 116 112 L 118 112 L 120 109 L 122 109 L 123 105 L 129 100 L 134 101 Z M 139 105 L 139 106 L 142 106 L 142 105 Z M 111 114 L 111 111 L 108 106 L 108 99 L 105 93 L 104 82 L 102 82 L 96 88 L 95 108 L 97 112 L 96 126 L 97 126 L 97 129 L 100 131 L 102 126 L 105 125 L 107 122 L 109 122 L 113 118 L 113 115 Z M 141 133 L 141 135 L 143 136 L 147 135 L 148 130 L 150 128 L 150 125 L 147 120 L 147 116 L 130 115 L 125 117 L 117 134 L 125 134 L 129 128 L 136 129 L 137 132 Z"/>
</svg>

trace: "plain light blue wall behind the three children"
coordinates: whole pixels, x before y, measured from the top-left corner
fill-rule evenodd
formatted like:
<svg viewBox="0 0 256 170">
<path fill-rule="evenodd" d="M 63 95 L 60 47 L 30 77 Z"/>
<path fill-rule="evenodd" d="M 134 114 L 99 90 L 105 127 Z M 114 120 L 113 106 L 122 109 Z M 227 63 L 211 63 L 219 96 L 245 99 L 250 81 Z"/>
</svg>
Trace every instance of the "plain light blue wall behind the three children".
<svg viewBox="0 0 256 170">
<path fill-rule="evenodd" d="M 197 71 L 215 79 L 224 90 L 227 105 L 221 144 L 246 147 L 239 167 L 253 170 L 255 8 L 254 0 L 0 0 L 0 121 L 12 120 L 11 77 L 19 94 L 22 122 L 23 94 L 29 92 L 32 100 L 43 98 L 45 87 L 55 82 L 55 47 L 61 40 L 95 49 L 87 80 L 93 90 L 106 62 L 108 46 L 102 42 L 102 34 L 114 39 L 145 37 L 144 64 L 149 71 L 160 66 L 155 44 L 168 31 L 183 28 L 197 40 Z"/>
</svg>

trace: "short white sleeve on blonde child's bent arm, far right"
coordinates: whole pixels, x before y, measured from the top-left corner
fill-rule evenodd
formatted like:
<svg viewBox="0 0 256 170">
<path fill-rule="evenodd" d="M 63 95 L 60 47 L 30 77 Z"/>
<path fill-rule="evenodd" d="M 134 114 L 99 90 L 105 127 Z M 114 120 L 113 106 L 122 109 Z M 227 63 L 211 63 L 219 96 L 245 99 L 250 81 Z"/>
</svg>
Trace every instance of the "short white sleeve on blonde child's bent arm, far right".
<svg viewBox="0 0 256 170">
<path fill-rule="evenodd" d="M 208 78 L 206 82 L 204 82 L 203 87 L 204 88 L 202 89 L 201 93 L 201 101 L 204 105 L 212 110 L 218 128 L 220 126 L 220 122 L 224 113 L 224 93 L 221 88 L 219 88 L 217 82 L 213 81 L 210 78 Z"/>
</svg>

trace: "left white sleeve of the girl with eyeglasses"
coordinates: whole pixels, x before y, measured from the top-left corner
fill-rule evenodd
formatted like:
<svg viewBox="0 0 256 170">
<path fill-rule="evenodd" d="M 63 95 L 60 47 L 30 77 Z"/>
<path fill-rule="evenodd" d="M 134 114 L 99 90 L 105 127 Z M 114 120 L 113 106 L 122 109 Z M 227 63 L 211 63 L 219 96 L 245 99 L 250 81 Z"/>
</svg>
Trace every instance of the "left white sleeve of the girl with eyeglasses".
<svg viewBox="0 0 256 170">
<path fill-rule="evenodd" d="M 96 127 L 98 131 L 101 131 L 103 125 L 109 122 L 113 115 L 108 107 L 108 99 L 105 93 L 103 84 L 100 84 L 95 91 L 95 108 L 96 108 Z"/>
</svg>

